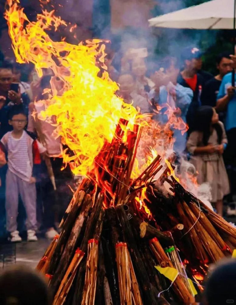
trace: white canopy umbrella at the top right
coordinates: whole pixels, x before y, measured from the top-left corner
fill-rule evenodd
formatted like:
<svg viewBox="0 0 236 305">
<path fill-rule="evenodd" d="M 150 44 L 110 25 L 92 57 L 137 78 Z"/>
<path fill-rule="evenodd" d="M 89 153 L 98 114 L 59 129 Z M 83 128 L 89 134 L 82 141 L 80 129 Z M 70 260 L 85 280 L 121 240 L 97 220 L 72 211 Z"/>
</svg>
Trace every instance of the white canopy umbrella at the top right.
<svg viewBox="0 0 236 305">
<path fill-rule="evenodd" d="M 234 29 L 235 0 L 212 0 L 149 20 L 154 27 Z"/>
</svg>

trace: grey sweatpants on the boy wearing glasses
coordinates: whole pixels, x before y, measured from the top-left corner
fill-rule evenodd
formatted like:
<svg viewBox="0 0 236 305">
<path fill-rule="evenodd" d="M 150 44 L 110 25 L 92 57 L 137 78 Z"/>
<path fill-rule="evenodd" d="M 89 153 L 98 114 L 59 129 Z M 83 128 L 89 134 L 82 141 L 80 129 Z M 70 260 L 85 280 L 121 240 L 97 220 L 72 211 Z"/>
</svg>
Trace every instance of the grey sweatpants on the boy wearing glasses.
<svg viewBox="0 0 236 305">
<path fill-rule="evenodd" d="M 26 209 L 26 228 L 36 230 L 36 187 L 35 183 L 23 181 L 21 178 L 7 170 L 6 175 L 6 218 L 7 231 L 17 230 L 17 215 L 19 194 Z"/>
</svg>

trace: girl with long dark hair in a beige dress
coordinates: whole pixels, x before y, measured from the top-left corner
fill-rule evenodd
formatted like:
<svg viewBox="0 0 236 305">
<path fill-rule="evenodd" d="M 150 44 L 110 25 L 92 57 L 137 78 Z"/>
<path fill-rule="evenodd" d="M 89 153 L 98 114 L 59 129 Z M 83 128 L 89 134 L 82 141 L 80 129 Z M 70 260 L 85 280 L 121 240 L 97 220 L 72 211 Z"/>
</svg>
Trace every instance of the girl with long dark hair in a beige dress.
<svg viewBox="0 0 236 305">
<path fill-rule="evenodd" d="M 198 171 L 197 181 L 210 183 L 212 203 L 223 215 L 223 197 L 229 193 L 229 181 L 222 154 L 227 146 L 224 125 L 216 110 L 201 106 L 197 110 L 196 127 L 190 134 L 187 148 L 192 154 L 191 163 Z"/>
</svg>

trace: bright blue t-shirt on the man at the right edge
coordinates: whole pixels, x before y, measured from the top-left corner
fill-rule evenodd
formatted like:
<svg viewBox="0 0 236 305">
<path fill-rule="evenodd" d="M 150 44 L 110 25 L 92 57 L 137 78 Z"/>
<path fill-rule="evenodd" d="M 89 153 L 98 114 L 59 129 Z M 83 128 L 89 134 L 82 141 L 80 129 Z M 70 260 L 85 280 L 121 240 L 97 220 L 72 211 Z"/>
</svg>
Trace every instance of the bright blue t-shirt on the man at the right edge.
<svg viewBox="0 0 236 305">
<path fill-rule="evenodd" d="M 236 74 L 235 74 L 235 80 L 236 80 Z M 228 73 L 222 79 L 219 93 L 217 95 L 217 100 L 221 99 L 227 94 L 227 88 L 230 87 L 231 85 L 232 85 L 232 73 Z M 225 121 L 225 129 L 230 130 L 232 128 L 236 128 L 236 92 L 234 93 L 232 99 L 228 102 L 226 121 Z"/>
</svg>

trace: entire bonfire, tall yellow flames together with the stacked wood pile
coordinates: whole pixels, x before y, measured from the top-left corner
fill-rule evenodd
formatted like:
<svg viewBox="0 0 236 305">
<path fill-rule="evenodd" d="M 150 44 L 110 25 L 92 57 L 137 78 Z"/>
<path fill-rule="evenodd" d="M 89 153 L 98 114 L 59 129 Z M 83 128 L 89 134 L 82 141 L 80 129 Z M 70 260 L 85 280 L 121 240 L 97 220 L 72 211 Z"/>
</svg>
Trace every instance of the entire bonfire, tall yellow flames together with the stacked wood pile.
<svg viewBox="0 0 236 305">
<path fill-rule="evenodd" d="M 175 176 L 172 127 L 186 125 L 168 105 L 161 126 L 125 104 L 106 73 L 104 42 L 52 41 L 47 31 L 66 26 L 53 11 L 29 22 L 8 0 L 5 18 L 17 61 L 39 76 L 53 71 L 38 117 L 67 146 L 65 166 L 85 177 L 37 265 L 53 304 L 193 303 L 209 264 L 232 255 L 236 229 Z"/>
</svg>

